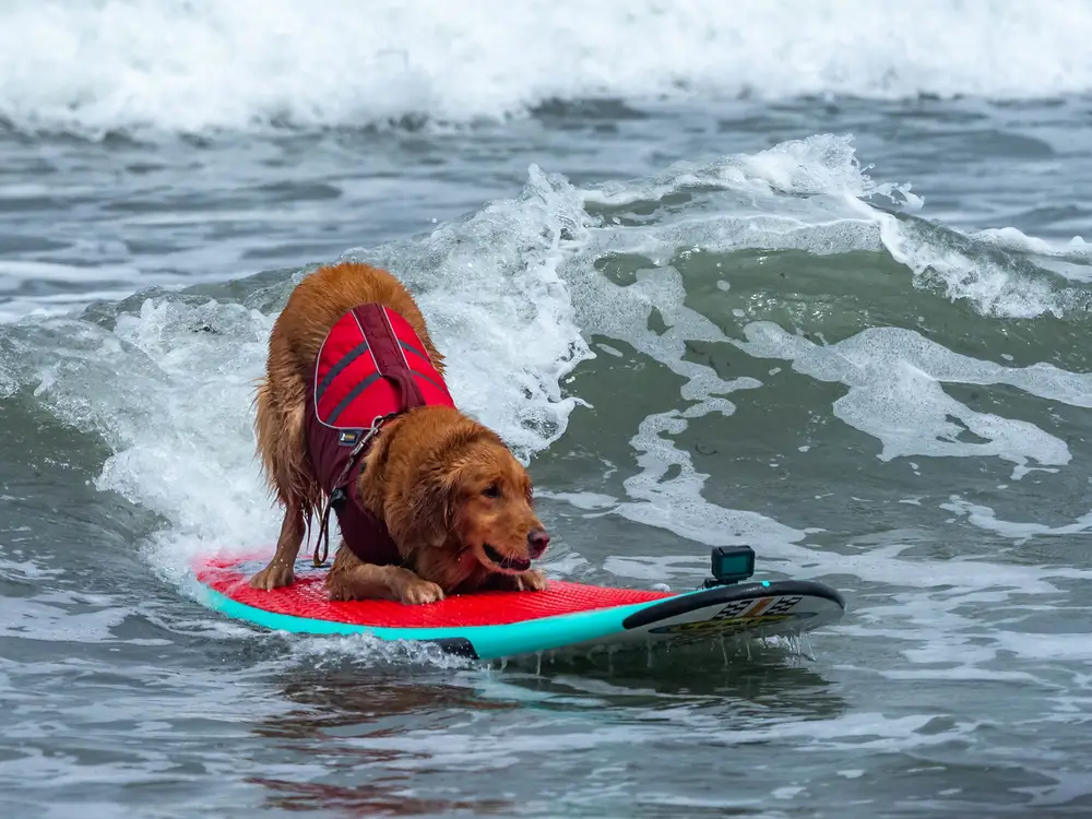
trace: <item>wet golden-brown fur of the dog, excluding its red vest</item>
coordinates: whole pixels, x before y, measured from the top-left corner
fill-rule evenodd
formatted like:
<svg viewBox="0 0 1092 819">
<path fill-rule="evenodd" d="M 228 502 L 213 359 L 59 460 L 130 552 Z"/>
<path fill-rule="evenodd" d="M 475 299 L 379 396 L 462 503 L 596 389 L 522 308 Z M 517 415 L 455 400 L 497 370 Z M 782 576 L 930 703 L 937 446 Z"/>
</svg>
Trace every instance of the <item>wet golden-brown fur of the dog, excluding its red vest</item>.
<svg viewBox="0 0 1092 819">
<path fill-rule="evenodd" d="M 256 589 L 293 582 L 293 565 L 323 497 L 304 428 L 309 371 L 334 323 L 366 302 L 401 313 L 443 375 L 443 356 L 420 310 L 387 271 L 341 262 L 297 285 L 273 324 L 254 397 L 262 472 L 284 510 L 276 553 L 250 580 Z M 549 535 L 534 512 L 526 470 L 496 432 L 451 407 L 416 407 L 382 427 L 365 464 L 357 497 L 387 524 L 402 565 L 365 563 L 342 541 L 327 575 L 331 598 L 424 604 L 456 592 L 546 587 L 530 562 Z"/>
</svg>

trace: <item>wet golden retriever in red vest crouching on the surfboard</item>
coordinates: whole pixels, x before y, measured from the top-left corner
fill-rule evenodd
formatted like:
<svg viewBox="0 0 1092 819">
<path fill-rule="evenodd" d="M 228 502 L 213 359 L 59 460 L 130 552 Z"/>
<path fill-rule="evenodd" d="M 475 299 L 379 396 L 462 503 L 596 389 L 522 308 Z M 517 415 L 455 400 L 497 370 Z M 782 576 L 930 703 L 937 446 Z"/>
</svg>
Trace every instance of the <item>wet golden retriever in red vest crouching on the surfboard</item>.
<svg viewBox="0 0 1092 819">
<path fill-rule="evenodd" d="M 254 399 L 262 472 L 284 521 L 250 585 L 293 582 L 325 505 L 342 534 L 325 580 L 333 600 L 425 604 L 546 587 L 531 568 L 549 543 L 531 478 L 496 432 L 454 407 L 443 368 L 416 302 L 387 271 L 341 262 L 299 283 L 273 325 Z M 340 423 L 346 406 L 354 423 Z M 370 424 L 375 406 L 382 414 Z"/>
</svg>

